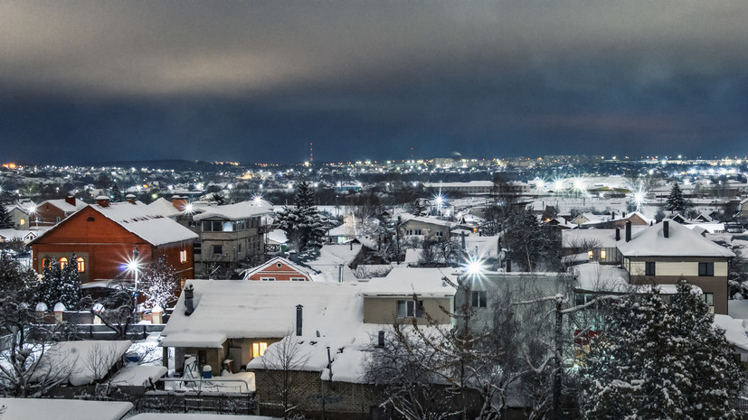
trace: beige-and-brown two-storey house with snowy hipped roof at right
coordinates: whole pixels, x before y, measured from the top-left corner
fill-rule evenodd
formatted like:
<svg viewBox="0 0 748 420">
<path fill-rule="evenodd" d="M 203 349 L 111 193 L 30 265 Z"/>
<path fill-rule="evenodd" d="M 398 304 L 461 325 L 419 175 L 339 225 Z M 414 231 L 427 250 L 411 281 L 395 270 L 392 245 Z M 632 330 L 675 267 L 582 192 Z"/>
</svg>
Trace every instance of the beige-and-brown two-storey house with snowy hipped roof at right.
<svg viewBox="0 0 748 420">
<path fill-rule="evenodd" d="M 727 262 L 735 257 L 732 251 L 672 220 L 625 238 L 618 249 L 631 284 L 676 285 L 686 279 L 701 288 L 715 313 L 727 313 Z"/>
</svg>

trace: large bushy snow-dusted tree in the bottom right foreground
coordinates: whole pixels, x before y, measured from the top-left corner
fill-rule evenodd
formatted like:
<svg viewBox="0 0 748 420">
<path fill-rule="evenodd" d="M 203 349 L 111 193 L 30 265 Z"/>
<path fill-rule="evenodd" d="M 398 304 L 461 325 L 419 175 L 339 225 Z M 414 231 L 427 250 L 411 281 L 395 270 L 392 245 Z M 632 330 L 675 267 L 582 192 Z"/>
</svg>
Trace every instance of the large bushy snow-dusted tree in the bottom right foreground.
<svg viewBox="0 0 748 420">
<path fill-rule="evenodd" d="M 724 331 L 685 282 L 611 303 L 581 370 L 584 418 L 735 418 L 743 381 Z"/>
</svg>

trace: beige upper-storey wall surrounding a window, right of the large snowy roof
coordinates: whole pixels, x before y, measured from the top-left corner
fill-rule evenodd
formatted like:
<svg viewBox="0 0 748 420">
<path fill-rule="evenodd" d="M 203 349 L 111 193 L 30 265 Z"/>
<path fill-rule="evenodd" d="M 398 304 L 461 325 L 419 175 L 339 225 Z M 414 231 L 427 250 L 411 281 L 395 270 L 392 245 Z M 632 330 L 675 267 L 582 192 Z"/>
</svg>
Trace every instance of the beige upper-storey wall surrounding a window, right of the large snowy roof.
<svg viewBox="0 0 748 420">
<path fill-rule="evenodd" d="M 364 298 L 364 322 L 391 325 L 393 322 L 411 323 L 415 319 L 419 325 L 426 325 L 426 318 L 398 318 L 397 301 L 412 300 L 412 296 L 401 297 L 365 297 Z M 428 313 L 437 322 L 450 324 L 450 316 L 441 311 L 440 306 L 451 310 L 452 298 L 423 298 L 423 312 Z"/>
</svg>

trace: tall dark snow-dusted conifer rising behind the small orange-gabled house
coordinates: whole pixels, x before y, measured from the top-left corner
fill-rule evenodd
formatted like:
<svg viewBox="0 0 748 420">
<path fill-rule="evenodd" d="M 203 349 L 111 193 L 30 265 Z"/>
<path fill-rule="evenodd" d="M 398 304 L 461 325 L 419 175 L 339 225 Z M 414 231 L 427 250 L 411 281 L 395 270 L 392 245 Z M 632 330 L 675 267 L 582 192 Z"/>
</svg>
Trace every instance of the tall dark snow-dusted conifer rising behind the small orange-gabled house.
<svg viewBox="0 0 748 420">
<path fill-rule="evenodd" d="M 298 182 L 294 201 L 295 207 L 286 207 L 279 214 L 278 227 L 286 232 L 289 244 L 303 260 L 316 255 L 324 244 L 325 219 L 314 205 L 314 190 L 309 182 Z"/>
</svg>

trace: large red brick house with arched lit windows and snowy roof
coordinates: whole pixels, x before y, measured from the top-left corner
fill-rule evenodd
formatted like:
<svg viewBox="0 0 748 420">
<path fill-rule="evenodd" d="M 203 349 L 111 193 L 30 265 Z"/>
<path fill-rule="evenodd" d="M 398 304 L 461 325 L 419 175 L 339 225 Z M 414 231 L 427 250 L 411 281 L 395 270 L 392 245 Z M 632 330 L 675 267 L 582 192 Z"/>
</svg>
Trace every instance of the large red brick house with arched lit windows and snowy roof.
<svg viewBox="0 0 748 420">
<path fill-rule="evenodd" d="M 81 283 L 133 278 L 126 269 L 135 247 L 144 267 L 163 256 L 186 279 L 194 278 L 196 238 L 193 231 L 154 214 L 142 202 L 100 200 L 63 219 L 30 246 L 38 273 L 43 270 L 44 258 L 70 264 L 75 253 Z"/>
</svg>

